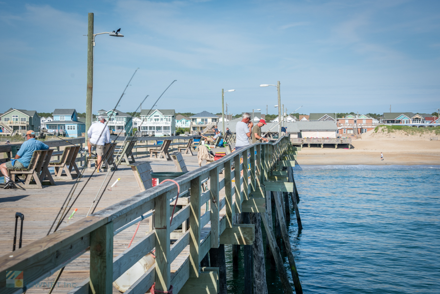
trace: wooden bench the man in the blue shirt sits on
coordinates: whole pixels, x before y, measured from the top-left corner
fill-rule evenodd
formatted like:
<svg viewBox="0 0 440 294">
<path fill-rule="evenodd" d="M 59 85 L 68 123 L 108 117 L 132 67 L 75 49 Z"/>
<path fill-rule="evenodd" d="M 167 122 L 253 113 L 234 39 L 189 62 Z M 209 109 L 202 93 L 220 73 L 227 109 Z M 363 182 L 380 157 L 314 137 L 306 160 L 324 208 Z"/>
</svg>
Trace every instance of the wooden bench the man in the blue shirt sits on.
<svg viewBox="0 0 440 294">
<path fill-rule="evenodd" d="M 24 176 L 24 188 L 43 188 L 43 181 L 49 181 L 55 185 L 49 172 L 49 161 L 52 157 L 53 150 L 36 150 L 34 151 L 29 166 L 27 168 L 8 168 L 8 177 L 15 181 L 15 177 Z M 34 180 L 35 184 L 31 181 Z"/>
</svg>

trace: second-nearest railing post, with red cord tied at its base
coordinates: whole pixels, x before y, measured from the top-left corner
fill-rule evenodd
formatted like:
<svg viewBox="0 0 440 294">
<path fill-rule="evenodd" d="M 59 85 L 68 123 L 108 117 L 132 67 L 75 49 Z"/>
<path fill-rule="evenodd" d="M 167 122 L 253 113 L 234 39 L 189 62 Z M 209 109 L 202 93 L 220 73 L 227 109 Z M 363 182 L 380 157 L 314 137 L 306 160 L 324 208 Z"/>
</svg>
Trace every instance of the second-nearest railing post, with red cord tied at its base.
<svg viewBox="0 0 440 294">
<path fill-rule="evenodd" d="M 168 291 L 171 285 L 170 270 L 170 202 L 168 193 L 163 193 L 154 198 L 154 234 L 155 249 L 154 255 L 156 265 L 155 289 Z M 191 249 L 190 249 L 191 250 Z"/>
</svg>

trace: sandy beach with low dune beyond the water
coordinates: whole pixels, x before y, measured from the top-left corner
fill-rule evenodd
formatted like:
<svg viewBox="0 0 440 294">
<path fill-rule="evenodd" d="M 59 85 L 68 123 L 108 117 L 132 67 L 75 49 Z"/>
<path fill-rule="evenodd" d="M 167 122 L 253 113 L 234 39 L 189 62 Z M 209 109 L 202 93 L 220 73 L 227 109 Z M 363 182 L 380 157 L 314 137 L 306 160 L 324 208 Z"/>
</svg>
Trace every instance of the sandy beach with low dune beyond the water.
<svg viewBox="0 0 440 294">
<path fill-rule="evenodd" d="M 440 165 L 440 141 L 431 141 L 434 134 L 408 136 L 401 133 L 363 134 L 352 140 L 352 148 L 308 148 L 298 152 L 297 162 L 302 165 Z M 439 136 L 440 138 L 440 136 Z M 384 160 L 380 160 L 380 153 Z"/>
</svg>

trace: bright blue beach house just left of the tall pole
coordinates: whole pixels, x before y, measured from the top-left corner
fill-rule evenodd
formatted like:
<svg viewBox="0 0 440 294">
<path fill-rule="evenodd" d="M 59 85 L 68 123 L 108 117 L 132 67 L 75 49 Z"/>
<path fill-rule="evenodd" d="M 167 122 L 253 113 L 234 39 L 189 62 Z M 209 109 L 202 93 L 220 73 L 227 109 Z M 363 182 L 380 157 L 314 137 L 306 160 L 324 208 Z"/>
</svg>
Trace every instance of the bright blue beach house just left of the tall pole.
<svg viewBox="0 0 440 294">
<path fill-rule="evenodd" d="M 56 132 L 70 138 L 80 137 L 86 133 L 86 124 L 78 121 L 78 113 L 75 109 L 55 109 L 52 116 L 53 120 L 45 123 L 47 132 Z"/>
</svg>

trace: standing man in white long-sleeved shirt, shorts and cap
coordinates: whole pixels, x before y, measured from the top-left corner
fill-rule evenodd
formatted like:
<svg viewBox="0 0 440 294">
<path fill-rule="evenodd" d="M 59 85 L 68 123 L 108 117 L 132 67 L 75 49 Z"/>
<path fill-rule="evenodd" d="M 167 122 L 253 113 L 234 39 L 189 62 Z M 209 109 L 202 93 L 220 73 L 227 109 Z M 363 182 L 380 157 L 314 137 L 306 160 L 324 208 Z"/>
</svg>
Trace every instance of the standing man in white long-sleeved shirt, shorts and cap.
<svg viewBox="0 0 440 294">
<path fill-rule="evenodd" d="M 92 123 L 90 128 L 88 129 L 88 154 L 91 154 L 91 147 L 96 148 L 96 154 L 98 156 L 98 164 L 96 166 L 98 173 L 102 173 L 101 161 L 104 156 L 104 146 L 107 143 L 110 143 L 110 130 L 109 127 L 106 126 L 106 119 L 104 116 L 99 115 L 97 117 L 98 122 Z"/>
</svg>

